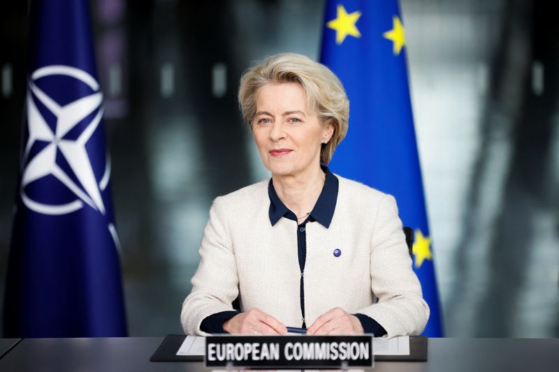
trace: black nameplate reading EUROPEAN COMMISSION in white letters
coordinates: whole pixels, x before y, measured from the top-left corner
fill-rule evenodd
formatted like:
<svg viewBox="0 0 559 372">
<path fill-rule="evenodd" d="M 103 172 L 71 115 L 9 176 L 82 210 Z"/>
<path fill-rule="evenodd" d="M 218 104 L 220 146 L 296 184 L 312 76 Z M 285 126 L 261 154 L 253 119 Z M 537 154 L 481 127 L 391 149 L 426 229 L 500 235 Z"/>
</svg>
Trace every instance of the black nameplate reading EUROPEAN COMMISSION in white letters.
<svg viewBox="0 0 559 372">
<path fill-rule="evenodd" d="M 205 366 L 319 369 L 372 367 L 372 334 L 359 336 L 208 336 Z"/>
</svg>

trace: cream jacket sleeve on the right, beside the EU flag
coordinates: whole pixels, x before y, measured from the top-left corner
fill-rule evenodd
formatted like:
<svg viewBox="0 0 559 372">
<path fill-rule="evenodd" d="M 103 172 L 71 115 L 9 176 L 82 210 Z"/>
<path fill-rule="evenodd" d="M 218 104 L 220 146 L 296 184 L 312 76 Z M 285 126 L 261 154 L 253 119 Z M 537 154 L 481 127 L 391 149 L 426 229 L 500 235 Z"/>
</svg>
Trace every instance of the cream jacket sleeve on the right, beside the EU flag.
<svg viewBox="0 0 559 372">
<path fill-rule="evenodd" d="M 429 318 L 429 306 L 412 270 L 398 207 L 391 195 L 384 195 L 379 203 L 370 267 L 372 292 L 379 302 L 356 313 L 376 320 L 388 337 L 421 334 Z"/>
</svg>

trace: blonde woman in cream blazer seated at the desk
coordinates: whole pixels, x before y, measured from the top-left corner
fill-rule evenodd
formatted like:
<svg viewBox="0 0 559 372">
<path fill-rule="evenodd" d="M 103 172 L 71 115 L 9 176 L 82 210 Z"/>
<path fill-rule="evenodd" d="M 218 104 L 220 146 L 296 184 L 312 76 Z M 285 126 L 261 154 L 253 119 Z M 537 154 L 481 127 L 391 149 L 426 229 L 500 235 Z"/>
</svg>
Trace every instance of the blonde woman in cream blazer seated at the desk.
<svg viewBox="0 0 559 372">
<path fill-rule="evenodd" d="M 421 333 L 429 308 L 394 198 L 326 168 L 347 133 L 340 80 L 278 54 L 244 73 L 239 102 L 272 177 L 215 199 L 184 332 Z"/>
</svg>

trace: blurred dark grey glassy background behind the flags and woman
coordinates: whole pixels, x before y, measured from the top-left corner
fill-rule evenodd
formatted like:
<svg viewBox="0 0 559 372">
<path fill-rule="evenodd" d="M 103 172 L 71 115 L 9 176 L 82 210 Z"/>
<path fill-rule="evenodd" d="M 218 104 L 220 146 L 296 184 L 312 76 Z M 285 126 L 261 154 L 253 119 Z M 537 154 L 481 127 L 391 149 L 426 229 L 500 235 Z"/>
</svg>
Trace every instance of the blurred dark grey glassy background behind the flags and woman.
<svg viewBox="0 0 559 372">
<path fill-rule="evenodd" d="M 318 59 L 324 1 L 91 5 L 129 334 L 181 333 L 212 200 L 269 177 L 238 110 L 240 74 L 278 52 Z M 400 7 L 445 335 L 558 337 L 554 3 L 400 0 Z M 2 299 L 27 32 L 27 1 L 3 1 Z"/>
</svg>

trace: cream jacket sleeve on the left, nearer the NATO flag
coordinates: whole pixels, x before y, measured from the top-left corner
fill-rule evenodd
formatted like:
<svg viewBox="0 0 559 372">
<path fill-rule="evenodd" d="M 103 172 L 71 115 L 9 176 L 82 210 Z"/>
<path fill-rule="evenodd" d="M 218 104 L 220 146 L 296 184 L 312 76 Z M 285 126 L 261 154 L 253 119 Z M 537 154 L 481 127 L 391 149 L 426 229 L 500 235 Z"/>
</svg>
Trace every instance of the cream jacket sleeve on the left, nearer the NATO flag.
<svg viewBox="0 0 559 372">
<path fill-rule="evenodd" d="M 216 198 L 210 209 L 202 244 L 200 265 L 192 277 L 192 291 L 184 299 L 180 320 L 185 334 L 206 336 L 201 323 L 208 316 L 234 311 L 231 305 L 239 294 L 238 274 L 227 226 L 226 205 Z"/>
</svg>

